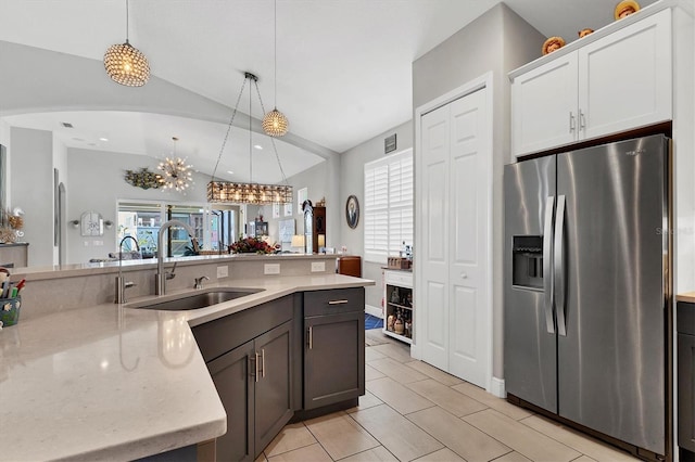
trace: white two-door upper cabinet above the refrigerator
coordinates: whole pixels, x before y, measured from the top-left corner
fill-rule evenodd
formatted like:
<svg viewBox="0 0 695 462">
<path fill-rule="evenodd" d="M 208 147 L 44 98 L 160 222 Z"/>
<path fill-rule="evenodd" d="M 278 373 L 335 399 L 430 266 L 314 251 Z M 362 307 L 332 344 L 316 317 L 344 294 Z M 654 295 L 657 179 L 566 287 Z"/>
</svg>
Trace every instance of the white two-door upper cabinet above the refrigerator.
<svg viewBox="0 0 695 462">
<path fill-rule="evenodd" d="M 516 156 L 671 119 L 670 9 L 576 48 L 513 73 Z"/>
</svg>

